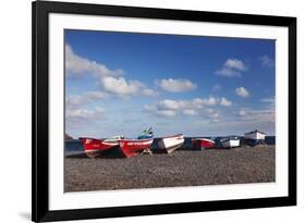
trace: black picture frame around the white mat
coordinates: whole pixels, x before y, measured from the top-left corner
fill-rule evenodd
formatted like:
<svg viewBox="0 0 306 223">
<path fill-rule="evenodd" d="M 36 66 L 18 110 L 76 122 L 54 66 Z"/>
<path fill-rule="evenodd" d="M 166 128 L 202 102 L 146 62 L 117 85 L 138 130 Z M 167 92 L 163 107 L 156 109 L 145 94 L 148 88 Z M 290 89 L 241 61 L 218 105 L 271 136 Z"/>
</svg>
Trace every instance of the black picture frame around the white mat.
<svg viewBox="0 0 306 223">
<path fill-rule="evenodd" d="M 169 214 L 296 205 L 296 18 L 285 16 L 114 7 L 68 2 L 33 2 L 33 156 L 32 220 L 34 222 Z M 106 15 L 282 26 L 289 28 L 289 196 L 77 210 L 49 209 L 48 21 L 50 13 Z"/>
</svg>

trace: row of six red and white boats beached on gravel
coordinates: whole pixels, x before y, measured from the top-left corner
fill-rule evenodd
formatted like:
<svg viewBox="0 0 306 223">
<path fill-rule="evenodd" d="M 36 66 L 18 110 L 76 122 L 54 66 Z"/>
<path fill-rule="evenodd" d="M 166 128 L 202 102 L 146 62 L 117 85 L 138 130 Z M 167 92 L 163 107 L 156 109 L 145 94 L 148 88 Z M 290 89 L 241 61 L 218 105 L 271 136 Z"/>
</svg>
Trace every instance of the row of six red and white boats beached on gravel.
<svg viewBox="0 0 306 223">
<path fill-rule="evenodd" d="M 265 143 L 266 134 L 259 131 L 253 131 L 244 134 L 244 141 L 249 146 L 256 146 L 258 144 Z M 106 139 L 96 139 L 88 137 L 79 138 L 84 152 L 89 158 L 96 158 L 101 156 L 105 151 L 110 151 L 112 149 L 120 149 L 125 157 L 134 157 L 144 151 L 148 151 L 154 143 L 154 133 L 149 128 L 144 131 L 142 135 L 137 138 L 125 138 L 124 136 L 114 136 Z M 220 145 L 222 148 L 234 148 L 240 147 L 241 141 L 237 136 L 223 137 L 220 139 Z M 183 146 L 185 141 L 183 134 L 178 134 L 173 136 L 167 136 L 158 139 L 158 149 L 171 153 Z M 193 138 L 192 147 L 194 149 L 208 149 L 215 148 L 215 138 Z"/>
</svg>

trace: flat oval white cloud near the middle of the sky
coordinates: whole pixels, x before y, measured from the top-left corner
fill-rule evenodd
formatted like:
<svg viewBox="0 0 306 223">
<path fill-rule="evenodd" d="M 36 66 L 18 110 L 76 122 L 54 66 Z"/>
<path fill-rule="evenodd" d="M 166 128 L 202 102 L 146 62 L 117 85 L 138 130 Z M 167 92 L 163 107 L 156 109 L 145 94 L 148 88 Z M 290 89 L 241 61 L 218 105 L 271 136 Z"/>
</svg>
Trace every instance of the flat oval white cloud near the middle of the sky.
<svg viewBox="0 0 306 223">
<path fill-rule="evenodd" d="M 197 88 L 197 85 L 188 79 L 168 78 L 168 79 L 156 80 L 156 84 L 159 87 L 161 87 L 163 90 L 170 92 L 189 91 Z"/>
</svg>

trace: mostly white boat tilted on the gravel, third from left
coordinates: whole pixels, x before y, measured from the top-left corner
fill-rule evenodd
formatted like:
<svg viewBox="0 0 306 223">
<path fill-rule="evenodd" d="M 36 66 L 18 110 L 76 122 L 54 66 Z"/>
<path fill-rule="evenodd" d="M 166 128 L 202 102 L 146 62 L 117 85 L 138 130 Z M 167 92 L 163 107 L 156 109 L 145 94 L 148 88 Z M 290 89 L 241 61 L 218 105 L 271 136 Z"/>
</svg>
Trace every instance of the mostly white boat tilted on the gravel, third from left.
<svg viewBox="0 0 306 223">
<path fill-rule="evenodd" d="M 164 149 L 168 153 L 179 149 L 184 144 L 184 135 L 178 134 L 174 136 L 162 137 L 158 140 L 157 145 L 159 149 Z"/>
</svg>

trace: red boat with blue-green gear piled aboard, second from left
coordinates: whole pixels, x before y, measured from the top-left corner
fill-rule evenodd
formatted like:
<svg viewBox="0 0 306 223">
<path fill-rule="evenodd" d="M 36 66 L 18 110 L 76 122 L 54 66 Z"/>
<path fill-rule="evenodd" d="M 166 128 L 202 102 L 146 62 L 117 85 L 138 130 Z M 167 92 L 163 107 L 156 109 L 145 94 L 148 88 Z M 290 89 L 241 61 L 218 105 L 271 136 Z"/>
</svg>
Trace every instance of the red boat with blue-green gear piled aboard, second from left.
<svg viewBox="0 0 306 223">
<path fill-rule="evenodd" d="M 150 148 L 154 141 L 154 134 L 151 128 L 144 131 L 137 138 L 119 139 L 120 148 L 123 154 L 127 158 L 135 157 L 144 150 Z"/>
</svg>

